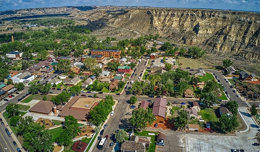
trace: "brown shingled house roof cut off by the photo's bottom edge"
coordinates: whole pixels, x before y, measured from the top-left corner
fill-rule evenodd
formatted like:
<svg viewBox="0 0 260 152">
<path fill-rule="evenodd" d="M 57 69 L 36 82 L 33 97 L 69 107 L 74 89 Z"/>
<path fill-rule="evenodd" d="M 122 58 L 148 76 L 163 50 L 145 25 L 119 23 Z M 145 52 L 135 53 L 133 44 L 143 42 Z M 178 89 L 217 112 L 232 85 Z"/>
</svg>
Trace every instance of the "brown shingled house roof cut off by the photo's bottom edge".
<svg viewBox="0 0 260 152">
<path fill-rule="evenodd" d="M 145 152 L 144 142 L 125 141 L 121 145 L 121 152 Z"/>
</svg>

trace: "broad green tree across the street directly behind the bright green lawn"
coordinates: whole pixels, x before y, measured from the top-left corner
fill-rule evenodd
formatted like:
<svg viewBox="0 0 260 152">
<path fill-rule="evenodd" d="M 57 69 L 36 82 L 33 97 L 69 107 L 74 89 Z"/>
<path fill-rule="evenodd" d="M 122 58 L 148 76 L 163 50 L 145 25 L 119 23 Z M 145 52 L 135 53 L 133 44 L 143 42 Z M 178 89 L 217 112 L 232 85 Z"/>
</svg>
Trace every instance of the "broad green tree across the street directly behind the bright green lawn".
<svg viewBox="0 0 260 152">
<path fill-rule="evenodd" d="M 205 92 L 200 96 L 201 99 L 204 99 L 202 102 L 204 105 L 210 107 L 212 104 L 219 104 L 219 99 L 216 93 L 214 92 Z"/>
</svg>

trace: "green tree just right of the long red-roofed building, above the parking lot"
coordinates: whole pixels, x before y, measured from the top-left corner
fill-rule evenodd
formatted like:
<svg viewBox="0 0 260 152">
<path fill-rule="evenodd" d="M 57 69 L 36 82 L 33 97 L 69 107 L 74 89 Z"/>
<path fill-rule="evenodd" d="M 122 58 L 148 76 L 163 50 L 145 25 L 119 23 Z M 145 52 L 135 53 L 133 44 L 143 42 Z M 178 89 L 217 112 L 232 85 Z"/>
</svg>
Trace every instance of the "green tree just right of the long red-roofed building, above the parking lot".
<svg viewBox="0 0 260 152">
<path fill-rule="evenodd" d="M 174 125 L 179 129 L 184 129 L 190 122 L 190 112 L 186 109 L 181 109 L 177 114 Z"/>
</svg>

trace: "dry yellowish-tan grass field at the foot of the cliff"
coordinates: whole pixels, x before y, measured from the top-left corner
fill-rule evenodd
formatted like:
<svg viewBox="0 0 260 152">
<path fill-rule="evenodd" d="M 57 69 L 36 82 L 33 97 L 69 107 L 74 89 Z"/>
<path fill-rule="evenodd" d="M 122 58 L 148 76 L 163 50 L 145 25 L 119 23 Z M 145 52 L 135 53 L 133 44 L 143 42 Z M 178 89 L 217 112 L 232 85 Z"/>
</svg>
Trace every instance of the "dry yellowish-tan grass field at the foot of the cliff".
<svg viewBox="0 0 260 152">
<path fill-rule="evenodd" d="M 191 58 L 179 57 L 178 59 L 176 59 L 176 62 L 177 62 L 176 66 L 179 68 L 186 68 L 186 67 L 205 68 L 206 67 L 206 65 L 203 64 L 202 62 Z"/>
</svg>

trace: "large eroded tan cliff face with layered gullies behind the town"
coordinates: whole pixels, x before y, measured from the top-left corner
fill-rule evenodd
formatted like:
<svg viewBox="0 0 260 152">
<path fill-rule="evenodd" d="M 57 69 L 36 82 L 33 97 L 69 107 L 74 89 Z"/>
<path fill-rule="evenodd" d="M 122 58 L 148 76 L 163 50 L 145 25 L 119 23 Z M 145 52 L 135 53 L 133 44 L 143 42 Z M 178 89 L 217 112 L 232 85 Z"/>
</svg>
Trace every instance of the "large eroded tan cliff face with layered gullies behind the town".
<svg viewBox="0 0 260 152">
<path fill-rule="evenodd" d="M 105 18 L 110 24 L 143 33 L 160 33 L 176 43 L 199 45 L 210 54 L 260 63 L 260 14 L 202 9 L 94 9 L 77 18 Z"/>
</svg>

